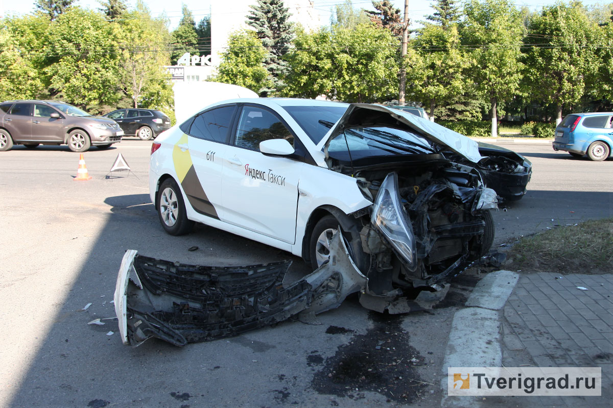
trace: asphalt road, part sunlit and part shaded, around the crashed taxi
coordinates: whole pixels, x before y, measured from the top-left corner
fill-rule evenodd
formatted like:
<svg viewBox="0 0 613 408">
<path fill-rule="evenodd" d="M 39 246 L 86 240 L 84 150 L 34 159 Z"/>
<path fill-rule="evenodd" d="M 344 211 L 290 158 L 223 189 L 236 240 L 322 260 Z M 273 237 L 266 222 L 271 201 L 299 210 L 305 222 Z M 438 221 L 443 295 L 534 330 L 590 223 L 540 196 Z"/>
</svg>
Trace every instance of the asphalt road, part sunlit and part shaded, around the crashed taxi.
<svg viewBox="0 0 613 408">
<path fill-rule="evenodd" d="M 613 160 L 499 144 L 530 158 L 534 174 L 521 201 L 494 213 L 496 245 L 613 215 Z M 321 325 L 285 322 L 184 348 L 123 346 L 110 300 L 126 249 L 210 265 L 289 258 L 293 277 L 308 273 L 288 253 L 216 229 L 165 234 L 148 196 L 149 149 L 138 140 L 91 149 L 85 182 L 72 180 L 78 154 L 66 146 L 0 154 L 0 406 L 440 406 L 451 319 L 474 276 L 460 275 L 429 312 L 382 319 L 350 298 Z M 120 152 L 132 172 L 106 178 Z M 87 324 L 96 318 L 110 319 Z"/>
</svg>

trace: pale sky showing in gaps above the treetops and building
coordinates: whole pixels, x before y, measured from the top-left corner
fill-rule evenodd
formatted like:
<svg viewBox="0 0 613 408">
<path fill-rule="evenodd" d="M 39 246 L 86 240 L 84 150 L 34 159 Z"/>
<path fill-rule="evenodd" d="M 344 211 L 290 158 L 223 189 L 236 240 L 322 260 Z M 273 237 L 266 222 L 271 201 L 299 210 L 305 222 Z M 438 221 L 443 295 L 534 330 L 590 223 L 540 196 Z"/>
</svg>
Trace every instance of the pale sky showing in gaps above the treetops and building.
<svg viewBox="0 0 613 408">
<path fill-rule="evenodd" d="M 182 2 L 186 4 L 189 10 L 194 14 L 194 20 L 199 21 L 202 20 L 205 15 L 208 15 L 211 1 L 215 0 L 183 0 Z M 232 0 L 230 0 L 230 3 L 231 1 Z M 609 1 L 600 2 L 607 3 Z M 314 0 L 315 9 L 319 11 L 319 15 L 321 16 L 321 23 L 324 25 L 329 24 L 330 10 L 335 4 L 341 4 L 343 2 L 344 0 Z M 583 0 L 583 3 L 586 5 L 596 4 L 598 2 L 597 0 Z M 0 11 L 2 11 L 2 15 L 22 15 L 34 11 L 34 3 L 34 0 L 0 0 L 0 5 L 2 6 L 0 7 Z M 135 1 L 130 0 L 126 1 L 126 3 L 128 3 L 129 6 L 134 6 Z M 353 0 L 352 3 L 354 7 L 373 10 L 373 7 L 371 7 L 371 0 Z M 400 9 L 401 13 L 404 12 L 404 0 L 393 0 L 392 3 Z M 77 0 L 75 4 L 90 9 L 98 9 L 101 7 L 97 0 Z M 178 25 L 181 18 L 181 1 L 145 0 L 145 4 L 147 4 L 151 10 L 152 15 L 156 17 L 166 12 L 166 17 L 170 20 L 170 29 Z M 430 7 L 430 4 L 433 4 L 433 1 L 409 0 L 409 18 L 411 19 L 411 25 L 414 25 L 419 20 L 425 20 L 425 15 L 432 14 L 433 9 Z M 555 4 L 555 1 L 517 0 L 515 4 L 517 7 L 528 6 L 531 9 L 538 9 L 542 6 Z"/>
</svg>

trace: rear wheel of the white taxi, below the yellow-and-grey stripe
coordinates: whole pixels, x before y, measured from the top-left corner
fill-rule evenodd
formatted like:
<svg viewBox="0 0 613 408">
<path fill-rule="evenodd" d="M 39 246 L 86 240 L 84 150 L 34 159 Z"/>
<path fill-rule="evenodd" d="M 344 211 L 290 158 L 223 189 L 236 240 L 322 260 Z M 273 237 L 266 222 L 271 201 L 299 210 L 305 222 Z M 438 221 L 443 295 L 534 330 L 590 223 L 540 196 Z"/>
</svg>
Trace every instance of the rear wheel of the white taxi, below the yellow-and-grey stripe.
<svg viewBox="0 0 613 408">
<path fill-rule="evenodd" d="M 170 235 L 184 235 L 191 232 L 194 221 L 188 220 L 185 201 L 177 183 L 166 179 L 159 187 L 156 198 L 159 222 Z"/>
</svg>

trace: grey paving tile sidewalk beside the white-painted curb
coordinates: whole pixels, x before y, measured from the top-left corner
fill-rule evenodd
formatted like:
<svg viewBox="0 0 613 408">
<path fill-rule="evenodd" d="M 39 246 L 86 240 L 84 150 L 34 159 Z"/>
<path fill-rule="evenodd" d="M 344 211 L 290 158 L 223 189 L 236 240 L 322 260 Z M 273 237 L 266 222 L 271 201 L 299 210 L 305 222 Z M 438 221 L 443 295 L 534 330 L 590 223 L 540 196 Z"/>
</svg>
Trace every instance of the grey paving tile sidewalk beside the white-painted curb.
<svg viewBox="0 0 613 408">
<path fill-rule="evenodd" d="M 611 407 L 613 274 L 522 273 L 504 305 L 502 340 L 502 362 L 507 367 L 602 368 L 601 397 L 527 396 L 516 397 L 515 402 L 523 406 Z"/>
</svg>

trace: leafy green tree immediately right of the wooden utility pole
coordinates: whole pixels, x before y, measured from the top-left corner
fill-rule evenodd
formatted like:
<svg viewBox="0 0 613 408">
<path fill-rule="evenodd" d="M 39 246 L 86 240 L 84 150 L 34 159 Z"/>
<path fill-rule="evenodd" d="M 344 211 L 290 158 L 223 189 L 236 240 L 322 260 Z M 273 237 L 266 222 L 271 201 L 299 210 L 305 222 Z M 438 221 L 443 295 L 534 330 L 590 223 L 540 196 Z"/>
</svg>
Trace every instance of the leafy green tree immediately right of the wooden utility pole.
<svg viewBox="0 0 613 408">
<path fill-rule="evenodd" d="M 447 105 L 468 91 L 466 73 L 472 61 L 460 50 L 457 26 L 427 24 L 419 31 L 407 64 L 407 92 L 430 108 L 434 120 L 435 108 Z"/>
</svg>

